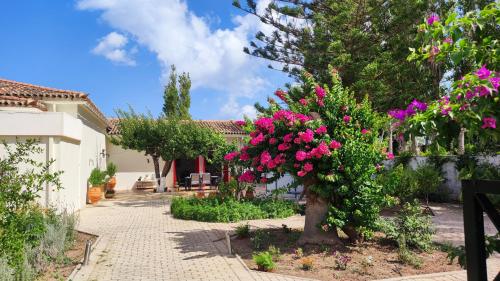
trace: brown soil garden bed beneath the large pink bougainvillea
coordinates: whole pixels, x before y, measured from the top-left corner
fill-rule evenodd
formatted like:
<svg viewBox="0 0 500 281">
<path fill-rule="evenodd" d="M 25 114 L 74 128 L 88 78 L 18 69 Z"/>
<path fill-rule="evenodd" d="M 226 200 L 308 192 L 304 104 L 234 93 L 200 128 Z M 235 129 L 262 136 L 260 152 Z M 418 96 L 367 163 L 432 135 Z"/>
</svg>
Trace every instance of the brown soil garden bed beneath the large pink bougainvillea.
<svg viewBox="0 0 500 281">
<path fill-rule="evenodd" d="M 300 254 L 297 255 L 299 246 L 296 244 L 300 230 L 266 229 L 259 232 L 266 233 L 263 235 L 264 239 L 260 239 L 260 245 L 252 243 L 255 232 L 248 238 L 231 239 L 233 251 L 254 270 L 257 265 L 252 260 L 252 254 L 267 251 L 270 245 L 280 252 L 279 258 L 274 255 L 276 266 L 273 272 L 319 280 L 374 280 L 460 270 L 456 263 L 449 264 L 447 254 L 439 250 L 418 253 L 418 257 L 422 259 L 420 268 L 405 265 L 398 260 L 397 246 L 381 233 L 376 233 L 372 241 L 356 246 L 333 248 L 307 245 L 301 248 L 303 255 L 300 257 Z M 256 246 L 260 249 L 255 249 Z M 304 270 L 302 265 L 308 259 L 312 263 L 312 269 Z M 348 260 L 345 270 L 336 266 L 339 259 Z"/>
</svg>

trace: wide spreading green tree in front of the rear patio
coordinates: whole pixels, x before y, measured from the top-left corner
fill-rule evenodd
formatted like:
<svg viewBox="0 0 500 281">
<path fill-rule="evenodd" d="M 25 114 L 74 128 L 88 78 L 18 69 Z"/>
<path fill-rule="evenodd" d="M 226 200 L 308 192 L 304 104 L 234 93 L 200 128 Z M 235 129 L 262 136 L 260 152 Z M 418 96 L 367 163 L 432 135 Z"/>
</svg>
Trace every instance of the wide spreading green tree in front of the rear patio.
<svg viewBox="0 0 500 281">
<path fill-rule="evenodd" d="M 209 162 L 221 161 L 220 155 L 227 151 L 228 144 L 222 135 L 190 120 L 153 118 L 132 108 L 118 110 L 117 115 L 120 135 L 113 137 L 112 143 L 150 156 L 157 178 L 168 174 L 175 159 L 201 155 Z M 165 161 L 161 172 L 160 159 Z"/>
</svg>

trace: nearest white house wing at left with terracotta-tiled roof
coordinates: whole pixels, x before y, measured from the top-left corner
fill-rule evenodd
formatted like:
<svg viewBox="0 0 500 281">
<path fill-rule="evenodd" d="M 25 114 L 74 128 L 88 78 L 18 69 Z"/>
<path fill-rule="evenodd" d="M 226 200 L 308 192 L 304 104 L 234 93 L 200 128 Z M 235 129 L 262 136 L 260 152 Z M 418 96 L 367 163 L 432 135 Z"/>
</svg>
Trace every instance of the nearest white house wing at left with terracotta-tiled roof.
<svg viewBox="0 0 500 281">
<path fill-rule="evenodd" d="M 69 210 L 86 204 L 90 171 L 106 168 L 108 120 L 87 94 L 0 79 L 0 139 L 39 139 L 43 149 L 35 157 L 55 159 L 63 189 L 46 187 L 41 203 Z M 5 153 L 3 146 L 0 154 Z"/>
</svg>

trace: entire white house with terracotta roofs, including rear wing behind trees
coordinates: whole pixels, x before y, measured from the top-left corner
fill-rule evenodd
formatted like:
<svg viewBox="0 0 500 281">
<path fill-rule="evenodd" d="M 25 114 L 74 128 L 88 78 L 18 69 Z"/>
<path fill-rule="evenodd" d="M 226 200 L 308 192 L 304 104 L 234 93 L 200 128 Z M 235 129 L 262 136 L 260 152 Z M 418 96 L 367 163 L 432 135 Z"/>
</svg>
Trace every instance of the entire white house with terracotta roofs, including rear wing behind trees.
<svg viewBox="0 0 500 281">
<path fill-rule="evenodd" d="M 53 171 L 64 171 L 63 189 L 46 187 L 40 194 L 46 206 L 71 210 L 85 206 L 90 171 L 96 167 L 104 170 L 110 161 L 118 167 L 117 190 L 131 190 L 154 179 L 149 157 L 110 142 L 109 136 L 119 134 L 117 121 L 108 120 L 87 94 L 0 79 L 0 140 L 13 145 L 16 139 L 39 139 L 43 153 L 35 157 L 42 162 L 54 159 Z M 245 137 L 230 120 L 196 122 L 223 134 L 229 142 L 241 144 Z M 5 151 L 0 147 L 0 156 L 2 153 Z M 202 157 L 178 159 L 167 175 L 167 187 L 191 172 L 205 171 L 223 176 L 221 167 L 207 165 Z"/>
</svg>

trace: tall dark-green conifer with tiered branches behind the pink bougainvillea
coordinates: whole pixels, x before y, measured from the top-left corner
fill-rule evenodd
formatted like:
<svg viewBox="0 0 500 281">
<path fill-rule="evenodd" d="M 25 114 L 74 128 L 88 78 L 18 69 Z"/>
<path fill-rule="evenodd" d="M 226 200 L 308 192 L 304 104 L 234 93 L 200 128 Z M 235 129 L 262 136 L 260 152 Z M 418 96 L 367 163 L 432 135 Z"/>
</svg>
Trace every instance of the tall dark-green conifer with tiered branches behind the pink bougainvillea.
<svg viewBox="0 0 500 281">
<path fill-rule="evenodd" d="M 328 66 L 340 71 L 358 99 L 368 95 L 376 109 L 439 94 L 440 69 L 408 62 L 417 24 L 430 11 L 444 14 L 445 0 L 276 0 L 259 11 L 254 0 L 233 5 L 274 28 L 258 32 L 244 51 L 274 62 L 298 77 L 300 69 L 330 83 Z"/>
</svg>

